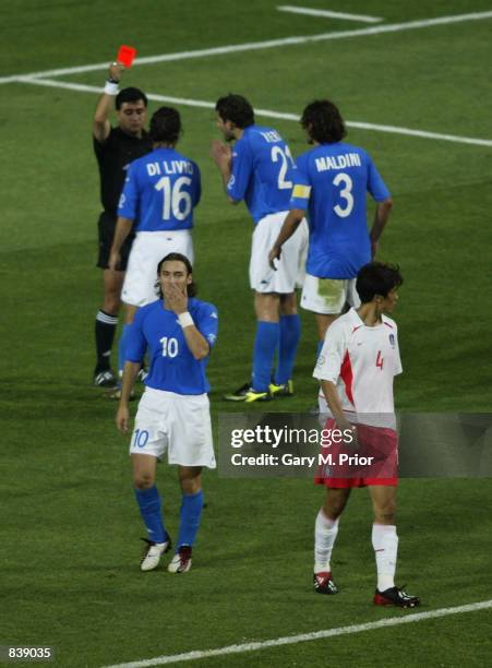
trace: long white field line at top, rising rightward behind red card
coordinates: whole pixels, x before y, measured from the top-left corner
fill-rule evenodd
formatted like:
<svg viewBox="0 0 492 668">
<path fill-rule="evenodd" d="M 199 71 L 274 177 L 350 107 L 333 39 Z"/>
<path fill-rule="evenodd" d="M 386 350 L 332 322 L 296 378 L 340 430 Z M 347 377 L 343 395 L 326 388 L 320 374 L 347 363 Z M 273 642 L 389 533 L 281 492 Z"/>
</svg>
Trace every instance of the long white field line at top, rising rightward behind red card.
<svg viewBox="0 0 492 668">
<path fill-rule="evenodd" d="M 413 31 L 418 28 L 432 27 L 434 25 L 447 25 L 452 23 L 463 23 L 464 21 L 482 21 L 492 19 L 492 11 L 475 12 L 471 14 L 457 14 L 455 16 L 439 16 L 436 19 L 424 19 L 421 21 L 409 21 L 407 23 L 393 23 L 389 25 L 379 25 L 369 28 L 359 28 L 357 31 L 339 31 L 336 33 L 323 33 L 321 35 L 305 35 L 303 37 L 284 37 L 281 39 L 268 39 L 266 41 L 251 41 L 247 44 L 236 44 L 223 47 L 214 47 L 211 49 L 199 49 L 195 51 L 178 51 L 176 53 L 161 53 L 160 56 L 147 56 L 137 58 L 134 65 L 154 64 L 156 62 L 168 62 L 171 60 L 185 60 L 189 58 L 205 58 L 206 56 L 221 56 L 225 53 L 235 53 L 238 51 L 253 51 L 256 49 L 272 49 L 276 47 L 293 46 L 299 44 L 309 44 L 315 41 L 325 41 L 328 39 L 344 39 L 347 37 L 361 37 L 364 35 L 380 35 L 382 33 L 398 33 L 400 31 Z M 107 70 L 108 62 L 98 62 L 96 64 L 80 65 L 75 68 L 60 68 L 57 70 L 46 70 L 44 72 L 32 72 L 29 74 L 15 74 L 12 76 L 0 77 L 0 84 L 14 83 L 22 81 L 25 76 L 28 77 L 49 77 L 62 76 L 64 74 L 80 74 L 82 72 L 93 72 L 96 70 Z"/>
</svg>

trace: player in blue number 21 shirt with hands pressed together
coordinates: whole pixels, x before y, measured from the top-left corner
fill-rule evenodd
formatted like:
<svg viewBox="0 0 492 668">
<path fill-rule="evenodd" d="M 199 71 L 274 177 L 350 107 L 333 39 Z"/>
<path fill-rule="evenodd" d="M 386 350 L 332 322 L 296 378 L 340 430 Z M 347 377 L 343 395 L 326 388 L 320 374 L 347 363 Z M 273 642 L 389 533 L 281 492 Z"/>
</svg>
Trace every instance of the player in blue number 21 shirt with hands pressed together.
<svg viewBox="0 0 492 668">
<path fill-rule="evenodd" d="M 253 108 L 244 97 L 229 94 L 217 100 L 215 109 L 217 127 L 226 142 L 235 145 L 231 150 L 214 141 L 212 157 L 229 202 L 244 200 L 255 226 L 250 260 L 257 319 L 252 380 L 225 398 L 250 403 L 289 396 L 293 392 L 291 377 L 300 336 L 295 289 L 302 281 L 307 223 L 286 243 L 277 272 L 268 266 L 267 252 L 288 213 L 296 165 L 278 132 L 255 124 Z M 278 365 L 271 382 L 277 348 Z"/>
</svg>

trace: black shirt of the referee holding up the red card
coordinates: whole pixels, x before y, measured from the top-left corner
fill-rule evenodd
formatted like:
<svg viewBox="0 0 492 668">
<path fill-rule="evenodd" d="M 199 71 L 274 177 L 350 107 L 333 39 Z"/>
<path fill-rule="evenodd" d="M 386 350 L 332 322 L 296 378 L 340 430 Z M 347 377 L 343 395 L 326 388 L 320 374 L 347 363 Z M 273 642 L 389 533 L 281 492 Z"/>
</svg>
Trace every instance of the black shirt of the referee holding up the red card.
<svg viewBox="0 0 492 668">
<path fill-rule="evenodd" d="M 152 151 L 152 141 L 145 130 L 139 139 L 127 134 L 120 128 L 111 128 L 103 144 L 94 136 L 93 141 L 99 166 L 100 201 L 104 210 L 116 217 L 127 169 L 130 163 Z"/>
</svg>

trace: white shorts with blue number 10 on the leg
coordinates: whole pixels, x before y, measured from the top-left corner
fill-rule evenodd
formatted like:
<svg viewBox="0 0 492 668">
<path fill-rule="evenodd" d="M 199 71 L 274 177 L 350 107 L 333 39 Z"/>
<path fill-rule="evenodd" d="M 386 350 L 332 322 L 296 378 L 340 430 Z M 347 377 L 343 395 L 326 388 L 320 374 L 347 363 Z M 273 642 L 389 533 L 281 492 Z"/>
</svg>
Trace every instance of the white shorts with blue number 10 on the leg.
<svg viewBox="0 0 492 668">
<path fill-rule="evenodd" d="M 176 394 L 146 387 L 135 416 L 130 454 L 169 464 L 216 468 L 206 394 Z"/>
</svg>

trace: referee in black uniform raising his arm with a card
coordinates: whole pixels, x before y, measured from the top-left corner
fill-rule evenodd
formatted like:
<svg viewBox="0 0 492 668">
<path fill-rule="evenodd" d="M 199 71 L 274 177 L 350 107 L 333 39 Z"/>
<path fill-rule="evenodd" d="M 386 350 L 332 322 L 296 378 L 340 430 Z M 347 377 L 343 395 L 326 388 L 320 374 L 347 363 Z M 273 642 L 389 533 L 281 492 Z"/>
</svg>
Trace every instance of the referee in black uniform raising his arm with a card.
<svg viewBox="0 0 492 668">
<path fill-rule="evenodd" d="M 98 220 L 97 266 L 103 270 L 104 277 L 104 301 L 96 315 L 97 361 L 94 384 L 98 387 L 112 387 L 117 384 L 110 357 L 121 306 L 121 287 L 134 236 L 130 235 L 121 249 L 119 269 L 109 270 L 108 258 L 118 217 L 118 201 L 130 163 L 152 150 L 152 141 L 144 130 L 147 98 L 139 88 L 119 91 L 122 70 L 123 65 L 118 62 L 109 67 L 109 77 L 97 103 L 93 122 L 94 151 L 99 167 L 100 201 L 104 208 Z M 117 127 L 111 127 L 108 120 L 113 105 Z"/>
</svg>

